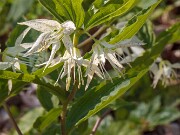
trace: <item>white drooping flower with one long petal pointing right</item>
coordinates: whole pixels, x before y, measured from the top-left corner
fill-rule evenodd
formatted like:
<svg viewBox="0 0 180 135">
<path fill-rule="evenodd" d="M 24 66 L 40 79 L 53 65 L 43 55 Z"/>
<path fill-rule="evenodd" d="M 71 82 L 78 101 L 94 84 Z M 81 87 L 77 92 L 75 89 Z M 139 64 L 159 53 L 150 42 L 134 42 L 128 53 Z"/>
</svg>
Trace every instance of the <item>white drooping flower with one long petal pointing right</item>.
<svg viewBox="0 0 180 135">
<path fill-rule="evenodd" d="M 112 80 L 111 76 L 108 74 L 108 72 L 105 69 L 106 60 L 111 64 L 113 69 L 117 72 L 117 75 L 119 74 L 123 75 L 122 63 L 126 61 L 126 58 L 124 59 L 121 56 L 122 53 L 119 53 L 118 49 L 122 50 L 123 48 L 123 51 L 124 51 L 128 47 L 136 47 L 140 45 L 144 45 L 144 43 L 142 43 L 140 40 L 138 40 L 135 37 L 133 37 L 132 39 L 121 41 L 113 45 L 105 41 L 96 41 L 96 43 L 92 47 L 93 54 L 91 57 L 90 65 L 87 66 L 86 75 L 88 76 L 88 78 L 87 78 L 87 84 L 86 84 L 85 89 L 88 88 L 92 80 L 92 77 L 95 73 L 100 78 L 106 78 L 106 75 L 105 75 L 106 73 L 108 78 Z"/>
</svg>

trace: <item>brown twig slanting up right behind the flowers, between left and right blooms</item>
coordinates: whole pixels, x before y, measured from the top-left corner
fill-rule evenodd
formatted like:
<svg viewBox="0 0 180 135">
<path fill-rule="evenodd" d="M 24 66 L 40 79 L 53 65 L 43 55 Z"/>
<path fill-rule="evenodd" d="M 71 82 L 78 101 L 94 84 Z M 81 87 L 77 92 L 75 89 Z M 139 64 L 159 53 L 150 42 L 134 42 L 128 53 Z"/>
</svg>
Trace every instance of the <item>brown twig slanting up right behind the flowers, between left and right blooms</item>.
<svg viewBox="0 0 180 135">
<path fill-rule="evenodd" d="M 100 29 L 98 29 L 93 35 L 92 37 L 95 38 L 97 37 L 99 34 L 101 34 L 101 32 L 103 32 L 106 29 L 107 26 L 102 26 Z M 89 37 L 88 39 L 86 39 L 85 41 L 83 41 L 82 43 L 80 43 L 79 45 L 77 45 L 78 48 L 81 48 L 83 46 L 85 46 L 86 44 L 88 44 L 89 42 L 92 41 L 92 37 Z"/>
</svg>

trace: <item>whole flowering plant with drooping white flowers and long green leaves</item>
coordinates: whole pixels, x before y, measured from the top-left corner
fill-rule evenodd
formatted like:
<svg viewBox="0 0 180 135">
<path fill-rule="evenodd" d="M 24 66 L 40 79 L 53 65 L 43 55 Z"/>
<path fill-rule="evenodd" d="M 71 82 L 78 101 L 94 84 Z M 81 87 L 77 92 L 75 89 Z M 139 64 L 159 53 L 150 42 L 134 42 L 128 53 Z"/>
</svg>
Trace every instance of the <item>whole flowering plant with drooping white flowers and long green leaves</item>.
<svg viewBox="0 0 180 135">
<path fill-rule="evenodd" d="M 179 68 L 179 64 L 165 64 L 158 71 L 154 63 L 166 44 L 179 39 L 179 23 L 152 44 L 137 35 L 161 0 L 149 1 L 145 7 L 137 0 L 39 1 L 56 20 L 18 23 L 23 29 L 12 34 L 16 37 L 13 47 L 2 52 L 0 78 L 35 83 L 46 89 L 41 92 L 56 96 L 58 105 L 50 109 L 45 105 L 47 99 L 41 94 L 38 97 L 48 111 L 34 123 L 41 132 L 60 116 L 62 135 L 73 134 L 81 123 L 123 95 L 149 70 L 156 86 L 160 79 L 166 83 L 163 76 L 174 75 L 169 67 Z M 32 31 L 38 32 L 35 40 L 26 41 Z M 12 89 L 17 82 L 13 82 Z M 0 101 L 18 92 L 9 90 Z"/>
</svg>

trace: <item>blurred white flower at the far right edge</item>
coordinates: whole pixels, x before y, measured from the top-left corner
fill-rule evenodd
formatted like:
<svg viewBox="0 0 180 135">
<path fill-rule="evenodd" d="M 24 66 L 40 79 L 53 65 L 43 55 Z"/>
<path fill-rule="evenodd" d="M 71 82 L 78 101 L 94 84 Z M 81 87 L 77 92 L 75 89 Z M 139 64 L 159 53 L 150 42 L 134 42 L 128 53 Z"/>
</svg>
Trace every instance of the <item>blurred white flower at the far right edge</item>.
<svg viewBox="0 0 180 135">
<path fill-rule="evenodd" d="M 157 60 L 150 67 L 150 71 L 153 74 L 153 88 L 157 86 L 157 83 L 161 80 L 162 85 L 167 86 L 170 80 L 177 78 L 176 69 L 180 69 L 180 63 L 171 64 L 169 61 L 157 58 Z"/>
</svg>

